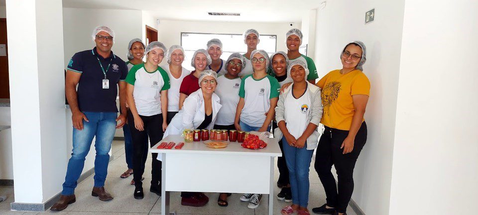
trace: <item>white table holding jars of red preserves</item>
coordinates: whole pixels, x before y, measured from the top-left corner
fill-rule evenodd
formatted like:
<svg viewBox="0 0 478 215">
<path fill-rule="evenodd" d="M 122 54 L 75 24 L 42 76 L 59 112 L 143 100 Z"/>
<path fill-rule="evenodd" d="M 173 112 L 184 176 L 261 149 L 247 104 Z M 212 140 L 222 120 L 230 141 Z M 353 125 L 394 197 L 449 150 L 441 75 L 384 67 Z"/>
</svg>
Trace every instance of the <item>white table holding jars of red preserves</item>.
<svg viewBox="0 0 478 215">
<path fill-rule="evenodd" d="M 184 139 L 169 135 L 150 149 L 162 155 L 162 215 L 169 215 L 171 191 L 269 194 L 269 215 L 273 214 L 274 157 L 282 155 L 275 139 L 257 150 L 237 142 L 210 148 L 202 141 L 185 143 L 182 149 L 158 149 L 162 142 L 178 144 Z"/>
</svg>

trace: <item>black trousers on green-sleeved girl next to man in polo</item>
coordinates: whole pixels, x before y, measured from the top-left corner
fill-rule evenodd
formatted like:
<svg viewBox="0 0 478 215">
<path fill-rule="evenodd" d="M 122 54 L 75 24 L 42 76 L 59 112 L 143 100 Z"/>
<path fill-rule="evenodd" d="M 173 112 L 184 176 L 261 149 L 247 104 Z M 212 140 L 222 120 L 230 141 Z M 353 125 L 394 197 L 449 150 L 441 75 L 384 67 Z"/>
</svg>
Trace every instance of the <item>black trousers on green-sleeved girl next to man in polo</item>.
<svg viewBox="0 0 478 215">
<path fill-rule="evenodd" d="M 133 141 L 133 179 L 134 185 L 136 187 L 142 187 L 141 177 L 144 173 L 144 163 L 146 160 L 143 160 L 144 153 L 144 138 L 149 137 L 149 143 L 152 147 L 159 141 L 163 139 L 163 116 L 162 114 L 157 114 L 153 116 L 141 116 L 139 115 L 141 120 L 143 121 L 144 130 L 139 131 L 134 127 L 134 117 L 131 114 L 131 111 L 128 111 L 128 124 L 131 130 L 131 138 Z M 147 147 L 147 145 L 146 145 Z M 152 161 L 151 161 L 151 187 L 154 189 L 160 190 L 161 184 L 161 161 L 156 159 L 158 157 L 158 153 L 152 153 Z"/>
</svg>

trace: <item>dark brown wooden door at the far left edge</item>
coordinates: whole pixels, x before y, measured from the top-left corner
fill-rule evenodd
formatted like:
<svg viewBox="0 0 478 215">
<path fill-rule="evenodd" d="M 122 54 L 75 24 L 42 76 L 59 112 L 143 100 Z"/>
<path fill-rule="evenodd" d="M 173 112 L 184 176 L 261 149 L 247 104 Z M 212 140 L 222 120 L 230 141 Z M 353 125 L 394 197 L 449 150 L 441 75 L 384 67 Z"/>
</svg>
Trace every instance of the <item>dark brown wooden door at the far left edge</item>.
<svg viewBox="0 0 478 215">
<path fill-rule="evenodd" d="M 10 98 L 7 51 L 8 46 L 6 44 L 6 19 L 0 18 L 0 98 Z"/>
</svg>

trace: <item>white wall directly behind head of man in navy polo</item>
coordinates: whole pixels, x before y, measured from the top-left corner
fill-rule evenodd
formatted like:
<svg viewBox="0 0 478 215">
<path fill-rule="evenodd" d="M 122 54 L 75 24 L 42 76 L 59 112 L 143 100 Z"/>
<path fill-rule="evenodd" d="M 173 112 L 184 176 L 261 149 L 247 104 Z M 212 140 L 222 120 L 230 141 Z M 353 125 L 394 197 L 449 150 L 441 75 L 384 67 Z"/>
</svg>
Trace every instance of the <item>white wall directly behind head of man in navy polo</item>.
<svg viewBox="0 0 478 215">
<path fill-rule="evenodd" d="M 91 35 L 99 25 L 106 25 L 115 31 L 112 51 L 127 61 L 129 41 L 143 35 L 141 18 L 140 10 L 63 8 L 65 67 L 75 53 L 95 47 Z"/>
</svg>

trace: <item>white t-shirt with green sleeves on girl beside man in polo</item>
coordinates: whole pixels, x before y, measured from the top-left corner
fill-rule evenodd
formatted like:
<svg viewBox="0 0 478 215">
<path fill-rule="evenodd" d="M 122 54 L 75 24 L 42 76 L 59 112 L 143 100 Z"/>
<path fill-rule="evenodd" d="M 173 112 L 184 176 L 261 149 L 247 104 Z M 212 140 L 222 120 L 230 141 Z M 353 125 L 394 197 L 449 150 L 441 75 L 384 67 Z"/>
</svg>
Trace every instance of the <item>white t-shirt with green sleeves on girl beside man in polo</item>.
<svg viewBox="0 0 478 215">
<path fill-rule="evenodd" d="M 158 67 L 147 72 L 144 64 L 134 65 L 126 76 L 127 83 L 134 85 L 133 98 L 136 110 L 141 116 L 161 114 L 161 91 L 169 89 L 166 71 Z"/>
</svg>

